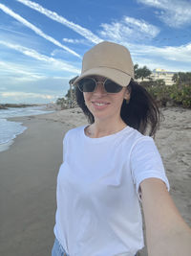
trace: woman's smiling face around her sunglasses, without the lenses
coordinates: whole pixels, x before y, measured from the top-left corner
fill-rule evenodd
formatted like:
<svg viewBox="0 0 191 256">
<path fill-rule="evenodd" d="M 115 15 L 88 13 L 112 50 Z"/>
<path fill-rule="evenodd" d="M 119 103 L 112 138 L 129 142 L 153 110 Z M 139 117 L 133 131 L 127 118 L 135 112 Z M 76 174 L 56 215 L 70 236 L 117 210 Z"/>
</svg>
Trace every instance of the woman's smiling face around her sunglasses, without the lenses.
<svg viewBox="0 0 191 256">
<path fill-rule="evenodd" d="M 105 81 L 105 78 L 94 76 L 96 81 Z M 123 100 L 130 99 L 127 87 L 121 91 L 111 94 L 107 93 L 102 83 L 98 83 L 94 92 L 84 92 L 84 100 L 88 109 L 94 115 L 95 120 L 106 120 L 108 118 L 119 118 L 120 108 Z"/>
</svg>

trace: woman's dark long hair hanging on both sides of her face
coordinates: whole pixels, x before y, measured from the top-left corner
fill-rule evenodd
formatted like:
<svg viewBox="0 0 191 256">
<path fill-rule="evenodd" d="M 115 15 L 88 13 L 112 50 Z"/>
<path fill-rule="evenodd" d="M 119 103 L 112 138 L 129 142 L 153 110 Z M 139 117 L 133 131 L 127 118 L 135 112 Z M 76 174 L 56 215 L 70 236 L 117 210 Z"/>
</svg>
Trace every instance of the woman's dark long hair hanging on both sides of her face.
<svg viewBox="0 0 191 256">
<path fill-rule="evenodd" d="M 155 136 L 160 120 L 160 111 L 157 103 L 147 90 L 134 80 L 130 81 L 128 89 L 131 97 L 128 104 L 123 100 L 121 105 L 120 116 L 122 120 L 129 127 L 136 128 L 142 134 L 149 132 L 150 136 Z M 77 86 L 75 87 L 75 96 L 77 104 L 88 117 L 89 123 L 93 124 L 95 118 L 85 105 L 83 93 Z"/>
</svg>

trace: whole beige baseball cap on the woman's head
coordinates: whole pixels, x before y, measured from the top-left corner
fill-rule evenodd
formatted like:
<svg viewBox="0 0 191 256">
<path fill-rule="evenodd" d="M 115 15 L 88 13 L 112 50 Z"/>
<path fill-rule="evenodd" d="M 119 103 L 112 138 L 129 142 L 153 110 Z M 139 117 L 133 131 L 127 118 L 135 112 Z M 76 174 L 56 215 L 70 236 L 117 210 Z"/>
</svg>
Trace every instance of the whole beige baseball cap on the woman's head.
<svg viewBox="0 0 191 256">
<path fill-rule="evenodd" d="M 87 76 L 101 76 L 127 86 L 134 79 L 134 64 L 129 50 L 108 41 L 96 44 L 84 54 L 81 75 L 74 84 Z"/>
</svg>

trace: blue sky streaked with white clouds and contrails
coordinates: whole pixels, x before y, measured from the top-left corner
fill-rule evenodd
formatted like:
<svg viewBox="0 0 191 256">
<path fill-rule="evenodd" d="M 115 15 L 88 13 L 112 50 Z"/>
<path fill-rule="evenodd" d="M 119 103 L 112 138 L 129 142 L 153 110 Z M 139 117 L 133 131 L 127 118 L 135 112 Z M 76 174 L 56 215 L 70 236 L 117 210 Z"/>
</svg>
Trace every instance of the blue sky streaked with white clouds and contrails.
<svg viewBox="0 0 191 256">
<path fill-rule="evenodd" d="M 0 103 L 50 103 L 102 40 L 149 69 L 191 71 L 191 0 L 0 0 Z"/>
</svg>

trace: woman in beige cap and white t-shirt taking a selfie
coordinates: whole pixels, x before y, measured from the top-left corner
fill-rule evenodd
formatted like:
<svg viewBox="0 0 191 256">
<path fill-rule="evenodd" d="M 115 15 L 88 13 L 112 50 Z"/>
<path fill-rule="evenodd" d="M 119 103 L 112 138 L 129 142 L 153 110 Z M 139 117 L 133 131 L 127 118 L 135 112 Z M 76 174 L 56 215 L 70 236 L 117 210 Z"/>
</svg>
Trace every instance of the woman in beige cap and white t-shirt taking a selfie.
<svg viewBox="0 0 191 256">
<path fill-rule="evenodd" d="M 169 196 L 154 140 L 159 109 L 134 81 L 122 45 L 101 42 L 83 58 L 74 81 L 89 126 L 69 130 L 57 177 L 52 255 L 191 255 L 191 231 Z M 150 127 L 150 136 L 144 135 Z"/>
</svg>

